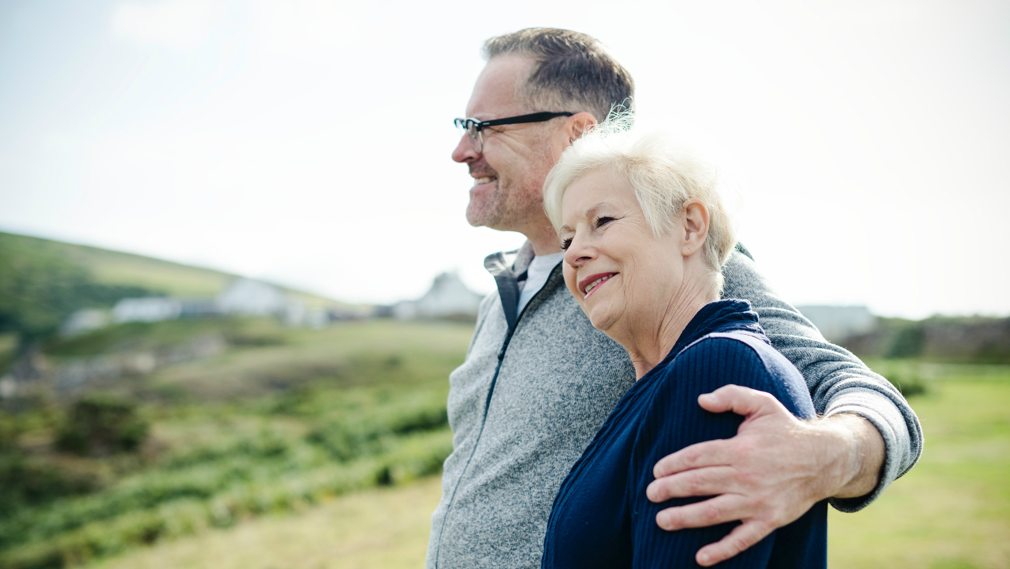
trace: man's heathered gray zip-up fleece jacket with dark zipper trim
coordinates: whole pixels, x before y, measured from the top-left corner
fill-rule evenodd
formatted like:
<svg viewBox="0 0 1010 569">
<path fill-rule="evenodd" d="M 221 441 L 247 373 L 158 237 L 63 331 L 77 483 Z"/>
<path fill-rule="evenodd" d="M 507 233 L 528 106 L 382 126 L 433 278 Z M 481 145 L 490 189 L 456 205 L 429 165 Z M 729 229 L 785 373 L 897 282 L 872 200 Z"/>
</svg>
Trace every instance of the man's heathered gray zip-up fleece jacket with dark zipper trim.
<svg viewBox="0 0 1010 569">
<path fill-rule="evenodd" d="M 583 315 L 561 264 L 515 313 L 517 277 L 531 258 L 526 243 L 485 259 L 498 292 L 481 304 L 467 359 L 449 375 L 453 450 L 431 517 L 429 569 L 539 567 L 559 486 L 635 380 L 624 348 Z M 879 484 L 832 501 L 843 511 L 866 506 L 918 459 L 915 414 L 886 379 L 769 291 L 748 254 L 735 251 L 723 274 L 724 297 L 750 302 L 803 374 L 818 414 L 855 413 L 880 430 L 887 457 Z"/>
</svg>

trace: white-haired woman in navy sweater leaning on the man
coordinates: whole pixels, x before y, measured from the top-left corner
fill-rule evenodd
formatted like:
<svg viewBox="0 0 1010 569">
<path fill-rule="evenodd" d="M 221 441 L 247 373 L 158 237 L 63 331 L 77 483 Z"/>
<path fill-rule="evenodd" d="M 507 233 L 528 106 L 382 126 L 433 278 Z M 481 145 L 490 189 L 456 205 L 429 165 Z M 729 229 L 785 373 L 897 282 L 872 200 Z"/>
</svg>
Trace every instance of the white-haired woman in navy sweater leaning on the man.
<svg viewBox="0 0 1010 569">
<path fill-rule="evenodd" d="M 731 381 L 809 418 L 806 383 L 745 301 L 719 300 L 734 245 L 726 212 L 713 178 L 663 137 L 606 127 L 584 136 L 550 172 L 544 203 L 569 290 L 593 326 L 627 349 L 637 381 L 562 484 L 543 567 L 695 567 L 695 552 L 735 524 L 660 529 L 661 509 L 700 498 L 650 502 L 652 466 L 736 433 L 739 416 L 702 411 L 698 395 Z M 824 567 L 826 515 L 815 504 L 719 566 Z"/>
</svg>

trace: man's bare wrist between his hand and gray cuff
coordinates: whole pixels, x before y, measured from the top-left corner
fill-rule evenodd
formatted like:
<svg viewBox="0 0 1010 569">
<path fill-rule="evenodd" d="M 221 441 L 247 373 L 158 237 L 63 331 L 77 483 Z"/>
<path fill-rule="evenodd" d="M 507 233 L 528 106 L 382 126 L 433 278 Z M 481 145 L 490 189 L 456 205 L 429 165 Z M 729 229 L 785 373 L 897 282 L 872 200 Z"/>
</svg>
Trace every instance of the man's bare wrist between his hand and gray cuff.
<svg viewBox="0 0 1010 569">
<path fill-rule="evenodd" d="M 842 413 L 822 421 L 842 444 L 837 487 L 830 497 L 848 498 L 869 494 L 880 481 L 887 449 L 884 437 L 865 418 Z"/>
</svg>

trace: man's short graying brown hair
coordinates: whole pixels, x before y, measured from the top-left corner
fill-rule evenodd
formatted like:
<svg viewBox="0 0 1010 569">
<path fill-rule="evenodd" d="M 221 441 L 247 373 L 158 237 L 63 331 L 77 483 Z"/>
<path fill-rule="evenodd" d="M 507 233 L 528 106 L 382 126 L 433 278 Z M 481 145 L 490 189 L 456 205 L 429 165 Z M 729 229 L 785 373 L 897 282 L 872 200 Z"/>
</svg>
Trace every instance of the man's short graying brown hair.
<svg viewBox="0 0 1010 569">
<path fill-rule="evenodd" d="M 631 107 L 631 74 L 591 35 L 528 27 L 484 42 L 487 60 L 507 53 L 535 62 L 517 94 L 531 111 L 588 111 L 602 121 L 614 106 Z"/>
</svg>

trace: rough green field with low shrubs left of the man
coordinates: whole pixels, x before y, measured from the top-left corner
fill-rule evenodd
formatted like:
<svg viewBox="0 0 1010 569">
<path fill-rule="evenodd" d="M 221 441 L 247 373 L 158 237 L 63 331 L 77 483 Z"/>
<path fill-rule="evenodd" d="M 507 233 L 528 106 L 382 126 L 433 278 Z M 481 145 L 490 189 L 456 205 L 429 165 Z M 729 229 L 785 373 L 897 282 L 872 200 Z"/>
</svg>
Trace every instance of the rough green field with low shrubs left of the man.
<svg viewBox="0 0 1010 569">
<path fill-rule="evenodd" d="M 53 361 L 67 361 L 157 350 L 188 335 L 227 338 L 216 355 L 102 385 L 103 396 L 135 402 L 149 421 L 137 452 L 61 451 L 63 410 L 79 394 L 4 417 L 0 427 L 15 436 L 0 433 L 0 475 L 23 488 L 0 488 L 0 568 L 79 565 L 240 528 L 435 473 L 451 450 L 445 377 L 472 325 L 211 324 L 128 325 L 48 346 Z"/>
</svg>

